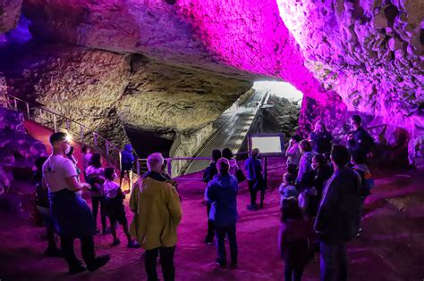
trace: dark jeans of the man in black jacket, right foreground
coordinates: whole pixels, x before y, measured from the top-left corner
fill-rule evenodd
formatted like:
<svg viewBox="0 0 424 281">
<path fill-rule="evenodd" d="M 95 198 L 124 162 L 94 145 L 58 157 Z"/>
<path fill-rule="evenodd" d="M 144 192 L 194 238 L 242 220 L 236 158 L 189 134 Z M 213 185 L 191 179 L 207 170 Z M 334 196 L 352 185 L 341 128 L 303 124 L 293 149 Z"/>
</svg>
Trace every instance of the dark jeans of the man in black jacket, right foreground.
<svg viewBox="0 0 424 281">
<path fill-rule="evenodd" d="M 321 281 L 345 281 L 347 279 L 346 244 L 344 242 L 337 244 L 321 242 L 319 250 Z"/>
</svg>

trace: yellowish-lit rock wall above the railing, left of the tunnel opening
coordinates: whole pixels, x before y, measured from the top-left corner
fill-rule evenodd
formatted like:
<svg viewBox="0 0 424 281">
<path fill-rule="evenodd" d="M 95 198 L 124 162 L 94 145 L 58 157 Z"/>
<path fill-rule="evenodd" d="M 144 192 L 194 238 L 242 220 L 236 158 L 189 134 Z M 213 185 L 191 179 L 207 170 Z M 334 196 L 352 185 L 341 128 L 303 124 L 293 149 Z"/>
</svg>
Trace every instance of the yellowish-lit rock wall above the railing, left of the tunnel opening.
<svg viewBox="0 0 424 281">
<path fill-rule="evenodd" d="M 9 94 L 44 104 L 115 145 L 131 139 L 141 156 L 156 150 L 167 155 L 176 136 L 207 138 L 210 132 L 204 128 L 251 87 L 246 80 L 169 66 L 142 55 L 75 45 L 31 43 L 20 54 L 5 52 L 0 59 L 6 62 L 0 71 Z M 53 126 L 48 114 L 38 115 L 38 121 Z M 66 127 L 64 119 L 57 121 Z M 80 128 L 71 126 L 71 131 L 78 139 Z M 151 137 L 155 144 L 148 144 Z M 201 144 L 189 143 L 183 151 L 196 153 Z"/>
</svg>

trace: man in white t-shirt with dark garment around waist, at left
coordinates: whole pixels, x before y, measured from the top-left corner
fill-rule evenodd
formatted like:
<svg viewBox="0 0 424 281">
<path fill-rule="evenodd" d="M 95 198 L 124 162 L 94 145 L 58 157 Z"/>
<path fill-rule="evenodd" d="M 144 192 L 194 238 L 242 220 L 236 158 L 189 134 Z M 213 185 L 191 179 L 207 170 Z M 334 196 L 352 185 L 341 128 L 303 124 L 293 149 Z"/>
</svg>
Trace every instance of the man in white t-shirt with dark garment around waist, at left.
<svg viewBox="0 0 424 281">
<path fill-rule="evenodd" d="M 64 157 L 71 145 L 67 135 L 62 132 L 50 136 L 53 153 L 43 165 L 43 178 L 49 190 L 50 208 L 61 236 L 64 259 L 69 265 L 69 274 L 77 274 L 89 269 L 94 271 L 103 267 L 109 260 L 108 255 L 96 258 L 94 252 L 94 222 L 87 202 L 81 198 L 81 191 L 89 184 L 80 183 L 72 161 Z M 84 267 L 73 251 L 74 239 L 81 239 Z"/>
</svg>

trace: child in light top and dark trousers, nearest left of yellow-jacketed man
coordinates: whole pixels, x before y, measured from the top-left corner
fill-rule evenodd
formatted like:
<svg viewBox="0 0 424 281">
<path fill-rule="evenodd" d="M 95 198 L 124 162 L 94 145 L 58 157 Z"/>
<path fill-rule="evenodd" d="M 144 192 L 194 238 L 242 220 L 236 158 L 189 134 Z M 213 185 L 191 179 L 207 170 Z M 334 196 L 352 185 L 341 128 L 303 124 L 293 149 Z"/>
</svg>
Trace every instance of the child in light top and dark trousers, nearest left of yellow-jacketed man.
<svg viewBox="0 0 424 281">
<path fill-rule="evenodd" d="M 103 188 L 105 190 L 105 202 L 106 202 L 106 214 L 109 217 L 110 225 L 114 226 L 116 222 L 120 223 L 123 226 L 123 232 L 128 239 L 128 248 L 140 248 L 140 244 L 132 240 L 130 233 L 128 232 L 128 222 L 125 218 L 125 209 L 123 207 L 123 198 L 125 195 L 123 191 L 119 187 L 118 184 L 114 182 L 114 178 L 118 176 L 114 172 L 113 167 L 107 167 L 105 169 L 105 178 L 106 181 L 103 184 Z M 118 237 L 116 236 L 115 227 L 110 227 L 112 231 L 112 236 L 114 236 L 114 242 L 112 246 L 116 246 L 121 244 Z"/>
</svg>

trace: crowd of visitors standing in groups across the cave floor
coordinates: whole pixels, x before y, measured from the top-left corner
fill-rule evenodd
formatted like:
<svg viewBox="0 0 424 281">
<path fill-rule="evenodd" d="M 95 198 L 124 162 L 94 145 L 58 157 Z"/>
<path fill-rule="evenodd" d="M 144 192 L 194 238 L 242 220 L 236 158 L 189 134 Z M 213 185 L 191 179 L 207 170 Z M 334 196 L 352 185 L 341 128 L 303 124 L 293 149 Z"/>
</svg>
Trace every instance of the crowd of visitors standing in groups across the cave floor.
<svg viewBox="0 0 424 281">
<path fill-rule="evenodd" d="M 361 209 L 373 187 L 366 164 L 373 139 L 361 127 L 359 116 L 352 117 L 352 125 L 355 130 L 349 137 L 348 147 L 333 144 L 333 136 L 320 121 L 305 139 L 300 135 L 290 138 L 286 150 L 287 170 L 277 189 L 281 196 L 278 249 L 285 262 L 285 280 L 301 280 L 315 252 L 320 253 L 321 280 L 347 278 L 346 243 L 360 235 Z M 164 279 L 174 280 L 174 252 L 182 207 L 177 183 L 165 173 L 162 154 L 148 156 L 148 172 L 131 188 L 129 207 L 133 218 L 129 227 L 122 186 L 124 175 L 131 173 L 135 161 L 131 145 L 123 150 L 119 179 L 113 167 L 103 168 L 99 153 L 91 153 L 89 147 L 84 146 L 82 174 L 85 182 L 81 182 L 67 135 L 54 133 L 50 136 L 50 144 L 53 153 L 38 160 L 35 177 L 38 211 L 47 230 L 46 254 L 64 257 L 70 274 L 87 269 L 94 271 L 104 266 L 110 257 L 96 256 L 93 236 L 111 234 L 111 246 L 117 246 L 121 242 L 116 229 L 121 225 L 128 248 L 145 250 L 148 280 L 157 280 L 158 256 Z M 264 208 L 267 180 L 259 157 L 259 149 L 252 149 L 243 172 L 230 149 L 216 149 L 204 170 L 204 202 L 208 215 L 204 242 L 214 244 L 215 238 L 219 266 L 227 264 L 225 240 L 229 243 L 231 266 L 238 264 L 236 222 L 240 183 L 247 180 L 249 186 L 247 209 L 260 211 Z M 91 209 L 81 197 L 82 189 L 89 191 Z M 101 232 L 97 227 L 98 209 Z M 61 249 L 55 243 L 55 233 L 60 236 Z M 85 265 L 73 251 L 75 239 L 81 239 Z"/>
</svg>

